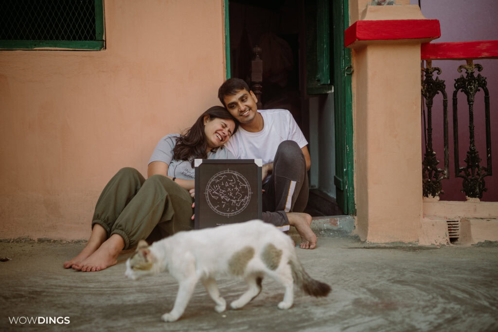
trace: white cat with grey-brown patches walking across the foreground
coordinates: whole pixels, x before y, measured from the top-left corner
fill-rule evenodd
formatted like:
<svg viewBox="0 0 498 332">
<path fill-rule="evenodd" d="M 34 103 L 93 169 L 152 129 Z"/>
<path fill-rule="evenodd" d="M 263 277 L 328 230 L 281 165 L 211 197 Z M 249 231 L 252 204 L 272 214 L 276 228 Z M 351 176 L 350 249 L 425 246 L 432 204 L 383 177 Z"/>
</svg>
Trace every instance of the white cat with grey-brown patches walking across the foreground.
<svg viewBox="0 0 498 332">
<path fill-rule="evenodd" d="M 179 289 L 173 310 L 162 315 L 165 322 L 180 318 L 199 280 L 216 303 L 215 310 L 225 311 L 226 302 L 215 281 L 218 276 L 241 277 L 249 285 L 249 289 L 230 304 L 233 309 L 244 307 L 259 294 L 263 276 L 285 287 L 279 309 L 292 306 L 294 283 L 312 296 L 327 296 L 331 290 L 329 285 L 304 271 L 289 236 L 258 220 L 183 231 L 151 246 L 142 240 L 135 254 L 126 261 L 125 275 L 136 280 L 166 270 L 178 281 Z"/>
</svg>

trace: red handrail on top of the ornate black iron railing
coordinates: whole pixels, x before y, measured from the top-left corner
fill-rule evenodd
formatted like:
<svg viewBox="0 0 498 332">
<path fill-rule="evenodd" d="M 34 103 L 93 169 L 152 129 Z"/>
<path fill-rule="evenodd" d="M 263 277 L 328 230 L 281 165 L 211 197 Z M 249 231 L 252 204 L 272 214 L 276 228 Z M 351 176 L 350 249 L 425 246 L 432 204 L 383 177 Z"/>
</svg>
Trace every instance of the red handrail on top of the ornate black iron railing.
<svg viewBox="0 0 498 332">
<path fill-rule="evenodd" d="M 498 40 L 424 43 L 420 53 L 424 60 L 497 59 Z"/>
</svg>

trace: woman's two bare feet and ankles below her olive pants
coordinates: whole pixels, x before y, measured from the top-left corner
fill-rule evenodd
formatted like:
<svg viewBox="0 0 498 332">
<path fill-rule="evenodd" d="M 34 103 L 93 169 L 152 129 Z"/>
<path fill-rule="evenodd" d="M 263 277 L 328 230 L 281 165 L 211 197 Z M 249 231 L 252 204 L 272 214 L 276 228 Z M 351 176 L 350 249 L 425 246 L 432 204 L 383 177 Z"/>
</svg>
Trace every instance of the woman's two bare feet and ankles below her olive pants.
<svg viewBox="0 0 498 332">
<path fill-rule="evenodd" d="M 118 255 L 124 248 L 124 240 L 118 234 L 107 238 L 107 232 L 98 223 L 94 224 L 92 235 L 85 248 L 73 259 L 64 263 L 64 268 L 72 267 L 83 272 L 104 270 L 118 262 Z"/>
</svg>

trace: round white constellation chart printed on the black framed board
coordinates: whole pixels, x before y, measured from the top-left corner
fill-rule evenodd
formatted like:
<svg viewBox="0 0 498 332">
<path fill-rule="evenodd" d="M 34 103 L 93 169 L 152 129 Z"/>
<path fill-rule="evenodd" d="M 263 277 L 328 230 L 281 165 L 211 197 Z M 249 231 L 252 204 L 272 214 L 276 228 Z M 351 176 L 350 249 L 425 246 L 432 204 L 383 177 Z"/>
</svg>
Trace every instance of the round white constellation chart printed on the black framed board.
<svg viewBox="0 0 498 332">
<path fill-rule="evenodd" d="M 204 194 L 211 210 L 219 215 L 231 217 L 247 208 L 252 191 L 244 175 L 225 170 L 211 177 Z"/>
</svg>

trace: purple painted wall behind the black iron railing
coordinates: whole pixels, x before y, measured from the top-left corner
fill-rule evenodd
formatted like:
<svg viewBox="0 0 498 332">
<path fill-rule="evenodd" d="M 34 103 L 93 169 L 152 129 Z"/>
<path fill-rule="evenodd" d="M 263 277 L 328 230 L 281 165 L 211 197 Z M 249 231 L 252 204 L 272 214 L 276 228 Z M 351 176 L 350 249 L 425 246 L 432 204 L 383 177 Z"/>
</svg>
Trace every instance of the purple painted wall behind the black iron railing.
<svg viewBox="0 0 498 332">
<path fill-rule="evenodd" d="M 411 4 L 418 4 L 418 0 L 410 0 Z M 433 42 L 458 42 L 475 40 L 498 40 L 498 3 L 496 0 L 421 0 L 422 14 L 429 19 L 438 19 L 441 24 L 441 38 Z M 448 95 L 449 116 L 449 151 L 450 151 L 450 179 L 443 180 L 444 201 L 465 201 L 465 194 L 461 193 L 461 178 L 455 178 L 454 153 L 453 153 L 453 116 L 452 95 L 455 79 L 460 77 L 457 72 L 459 65 L 465 64 L 461 60 L 433 61 L 433 67 L 442 70 L 440 79 L 446 82 Z M 491 113 L 491 140 L 493 176 L 486 177 L 486 188 L 481 201 L 498 201 L 498 59 L 474 60 L 474 64 L 481 64 L 484 69 L 481 75 L 487 78 L 490 93 Z M 465 71 L 464 71 L 465 72 Z M 477 74 L 476 74 L 477 75 Z M 433 147 L 438 157 L 439 168 L 444 168 L 443 154 L 443 115 L 442 97 L 435 97 L 433 106 Z M 458 129 L 459 129 L 459 159 L 460 167 L 464 166 L 464 159 L 469 149 L 469 112 L 467 98 L 464 93 L 459 93 L 458 98 Z M 481 157 L 481 165 L 486 166 L 486 132 L 484 120 L 484 93 L 476 94 L 474 105 L 474 123 L 476 130 L 476 147 Z M 425 152 L 424 142 L 422 151 Z"/>
</svg>

